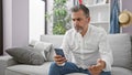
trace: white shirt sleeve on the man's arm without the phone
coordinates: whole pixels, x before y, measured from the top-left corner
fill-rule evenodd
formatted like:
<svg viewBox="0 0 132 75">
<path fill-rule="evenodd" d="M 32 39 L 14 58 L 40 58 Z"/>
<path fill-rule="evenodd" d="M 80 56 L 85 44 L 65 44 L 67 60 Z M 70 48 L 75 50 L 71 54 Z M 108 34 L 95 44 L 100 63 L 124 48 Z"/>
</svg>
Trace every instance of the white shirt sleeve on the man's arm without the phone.
<svg viewBox="0 0 132 75">
<path fill-rule="evenodd" d="M 112 57 L 112 51 L 110 49 L 106 31 L 100 33 L 99 52 L 102 61 L 106 62 L 106 68 L 103 71 L 105 72 L 111 71 L 113 57 Z"/>
</svg>

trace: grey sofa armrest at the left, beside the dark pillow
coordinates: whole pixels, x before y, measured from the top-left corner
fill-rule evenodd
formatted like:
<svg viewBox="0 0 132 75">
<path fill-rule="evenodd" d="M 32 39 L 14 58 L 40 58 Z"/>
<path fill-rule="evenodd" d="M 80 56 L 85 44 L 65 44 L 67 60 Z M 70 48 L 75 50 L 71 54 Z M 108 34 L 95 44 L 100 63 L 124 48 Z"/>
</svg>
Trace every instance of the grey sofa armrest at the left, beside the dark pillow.
<svg viewBox="0 0 132 75">
<path fill-rule="evenodd" d="M 0 56 L 0 75 L 4 75 L 8 66 L 18 64 L 11 56 Z"/>
</svg>

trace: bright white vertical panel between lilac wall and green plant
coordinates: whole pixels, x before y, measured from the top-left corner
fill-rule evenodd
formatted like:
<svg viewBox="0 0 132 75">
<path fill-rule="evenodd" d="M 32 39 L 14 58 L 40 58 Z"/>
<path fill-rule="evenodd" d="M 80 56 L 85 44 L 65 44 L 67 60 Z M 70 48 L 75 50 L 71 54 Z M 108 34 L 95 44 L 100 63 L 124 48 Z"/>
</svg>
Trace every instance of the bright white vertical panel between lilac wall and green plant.
<svg viewBox="0 0 132 75">
<path fill-rule="evenodd" d="M 30 34 L 29 41 L 40 40 L 40 35 L 44 34 L 44 8 L 43 0 L 30 0 Z"/>
</svg>

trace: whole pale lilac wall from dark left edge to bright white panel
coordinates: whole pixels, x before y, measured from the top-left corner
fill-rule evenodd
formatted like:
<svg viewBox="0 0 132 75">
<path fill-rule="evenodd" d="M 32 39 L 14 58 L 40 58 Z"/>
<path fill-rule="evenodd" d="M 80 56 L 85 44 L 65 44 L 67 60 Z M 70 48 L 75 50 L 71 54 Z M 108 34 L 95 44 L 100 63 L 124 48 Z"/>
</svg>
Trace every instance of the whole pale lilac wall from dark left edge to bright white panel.
<svg viewBox="0 0 132 75">
<path fill-rule="evenodd" d="M 29 0 L 3 0 L 3 50 L 28 45 Z"/>
</svg>

